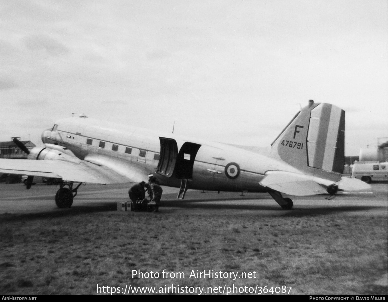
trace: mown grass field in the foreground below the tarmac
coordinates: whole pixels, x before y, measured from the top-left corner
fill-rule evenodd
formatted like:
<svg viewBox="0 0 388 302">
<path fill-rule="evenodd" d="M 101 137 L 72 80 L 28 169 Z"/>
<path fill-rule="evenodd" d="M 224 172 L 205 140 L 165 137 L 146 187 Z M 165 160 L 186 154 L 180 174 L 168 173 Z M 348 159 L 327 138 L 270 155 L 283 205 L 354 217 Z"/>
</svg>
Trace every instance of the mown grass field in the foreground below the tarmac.
<svg viewBox="0 0 388 302">
<path fill-rule="evenodd" d="M 387 219 L 117 212 L 0 215 L 0 293 L 96 294 L 99 286 L 292 286 L 290 294 L 387 294 Z M 137 278 L 142 272 L 185 278 Z M 191 271 L 256 278 L 189 278 Z M 182 275 L 181 275 L 182 276 Z"/>
</svg>

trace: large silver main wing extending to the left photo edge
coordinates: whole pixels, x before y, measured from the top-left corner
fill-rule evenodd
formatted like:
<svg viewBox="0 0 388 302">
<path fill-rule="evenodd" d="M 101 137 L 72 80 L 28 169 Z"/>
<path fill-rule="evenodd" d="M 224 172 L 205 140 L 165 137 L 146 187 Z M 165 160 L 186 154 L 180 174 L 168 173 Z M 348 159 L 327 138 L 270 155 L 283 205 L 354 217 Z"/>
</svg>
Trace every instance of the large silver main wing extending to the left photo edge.
<svg viewBox="0 0 388 302">
<path fill-rule="evenodd" d="M 76 163 L 64 160 L 0 159 L 0 172 L 100 184 L 137 181 L 123 176 L 110 167 L 83 160 Z"/>
</svg>

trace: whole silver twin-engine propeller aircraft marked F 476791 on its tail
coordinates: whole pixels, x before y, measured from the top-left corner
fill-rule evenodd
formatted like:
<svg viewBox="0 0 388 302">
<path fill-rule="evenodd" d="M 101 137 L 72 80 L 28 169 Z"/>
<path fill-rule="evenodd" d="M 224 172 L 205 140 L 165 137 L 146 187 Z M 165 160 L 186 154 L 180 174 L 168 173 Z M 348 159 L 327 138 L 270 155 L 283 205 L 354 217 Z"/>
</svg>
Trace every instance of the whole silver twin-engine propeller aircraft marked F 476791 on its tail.
<svg viewBox="0 0 388 302">
<path fill-rule="evenodd" d="M 55 195 L 71 207 L 81 183 L 137 183 L 153 173 L 161 185 L 227 192 L 268 192 L 283 209 L 289 195 L 335 195 L 369 185 L 343 178 L 345 111 L 326 103 L 301 109 L 267 152 L 185 138 L 173 133 L 102 123 L 90 118 L 57 121 L 42 133 L 44 148 L 30 159 L 0 159 L 0 172 L 62 178 Z M 23 145 L 19 143 L 20 147 Z M 79 183 L 73 188 L 74 183 Z"/>
</svg>

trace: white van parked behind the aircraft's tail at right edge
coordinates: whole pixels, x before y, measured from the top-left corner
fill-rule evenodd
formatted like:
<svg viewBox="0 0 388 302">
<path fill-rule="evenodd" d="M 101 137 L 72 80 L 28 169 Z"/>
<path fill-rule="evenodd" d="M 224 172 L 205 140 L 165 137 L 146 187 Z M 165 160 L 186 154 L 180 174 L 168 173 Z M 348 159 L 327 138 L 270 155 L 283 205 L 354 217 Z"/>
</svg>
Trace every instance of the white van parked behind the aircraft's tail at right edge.
<svg viewBox="0 0 388 302">
<path fill-rule="evenodd" d="M 365 183 L 388 181 L 388 162 L 355 162 L 352 178 L 361 179 Z"/>
</svg>

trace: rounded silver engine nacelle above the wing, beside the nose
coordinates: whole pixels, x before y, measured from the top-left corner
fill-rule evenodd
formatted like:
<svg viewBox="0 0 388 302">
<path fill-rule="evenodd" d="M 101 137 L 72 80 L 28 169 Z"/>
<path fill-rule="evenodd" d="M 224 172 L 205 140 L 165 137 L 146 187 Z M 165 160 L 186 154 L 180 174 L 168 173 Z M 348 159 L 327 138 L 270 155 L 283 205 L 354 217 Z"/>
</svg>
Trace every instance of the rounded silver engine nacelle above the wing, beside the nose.
<svg viewBox="0 0 388 302">
<path fill-rule="evenodd" d="M 54 148 L 51 148 L 54 146 Z M 46 144 L 46 147 L 35 147 L 30 150 L 28 159 L 64 160 L 79 164 L 81 160 L 73 152 L 61 146 Z"/>
</svg>

